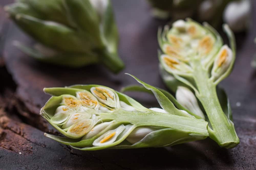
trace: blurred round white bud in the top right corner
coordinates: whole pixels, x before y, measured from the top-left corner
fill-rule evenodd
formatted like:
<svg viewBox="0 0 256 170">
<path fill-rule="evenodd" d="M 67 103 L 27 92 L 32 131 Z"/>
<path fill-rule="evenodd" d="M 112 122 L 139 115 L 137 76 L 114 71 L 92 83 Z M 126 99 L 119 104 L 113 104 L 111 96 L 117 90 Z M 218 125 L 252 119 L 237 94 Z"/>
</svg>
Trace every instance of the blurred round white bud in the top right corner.
<svg viewBox="0 0 256 170">
<path fill-rule="evenodd" d="M 251 18 L 250 0 L 238 0 L 230 2 L 223 15 L 223 20 L 235 31 L 243 31 L 248 28 Z"/>
</svg>

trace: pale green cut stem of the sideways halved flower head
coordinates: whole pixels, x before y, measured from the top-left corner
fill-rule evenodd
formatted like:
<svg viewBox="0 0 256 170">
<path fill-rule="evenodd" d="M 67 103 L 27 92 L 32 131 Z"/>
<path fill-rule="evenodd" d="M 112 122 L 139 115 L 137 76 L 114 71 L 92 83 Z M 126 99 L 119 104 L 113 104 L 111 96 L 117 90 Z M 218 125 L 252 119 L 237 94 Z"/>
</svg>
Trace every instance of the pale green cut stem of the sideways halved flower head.
<svg viewBox="0 0 256 170">
<path fill-rule="evenodd" d="M 175 128 L 191 132 L 193 134 L 200 134 L 209 136 L 207 132 L 207 122 L 191 117 L 177 116 L 167 113 L 160 113 L 155 111 L 148 112 L 131 112 L 125 110 L 118 110 L 113 113 L 101 113 L 101 119 L 115 120 L 121 123 L 131 123 L 136 126 L 159 126 L 166 128 Z"/>
</svg>

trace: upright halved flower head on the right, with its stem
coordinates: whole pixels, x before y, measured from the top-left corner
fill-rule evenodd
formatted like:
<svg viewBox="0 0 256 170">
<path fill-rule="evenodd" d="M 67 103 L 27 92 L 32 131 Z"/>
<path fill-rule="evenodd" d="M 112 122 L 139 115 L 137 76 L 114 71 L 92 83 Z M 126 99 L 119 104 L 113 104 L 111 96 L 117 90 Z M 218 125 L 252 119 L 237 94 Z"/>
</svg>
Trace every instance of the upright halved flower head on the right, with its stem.
<svg viewBox="0 0 256 170">
<path fill-rule="evenodd" d="M 221 100 L 228 103 L 227 99 L 221 97 L 226 97 L 226 94 L 222 90 L 216 90 L 217 84 L 230 74 L 236 56 L 234 35 L 227 25 L 223 28 L 230 40 L 231 49 L 223 45 L 220 35 L 207 23 L 200 25 L 190 19 L 176 21 L 171 29 L 165 27 L 163 32 L 158 32 L 159 45 L 163 51 L 163 54 L 159 54 L 159 61 L 161 72 L 167 75 L 162 76 L 166 85 L 175 89 L 178 82 L 178 85 L 185 84 L 193 90 L 207 114 L 210 137 L 220 146 L 232 148 L 239 143 L 239 138 L 232 119 L 225 115 L 225 110 L 221 107 Z M 184 88 L 182 92 L 178 88 L 176 98 L 178 92 L 188 94 L 189 88 L 185 88 L 185 92 Z M 192 105 L 196 106 L 196 100 L 191 95 L 188 96 L 194 102 Z M 185 95 L 179 98 L 185 100 L 182 99 L 184 97 Z M 178 98 L 177 100 L 179 101 Z M 186 108 L 193 111 L 192 105 Z M 197 112 L 200 114 L 200 111 Z"/>
</svg>

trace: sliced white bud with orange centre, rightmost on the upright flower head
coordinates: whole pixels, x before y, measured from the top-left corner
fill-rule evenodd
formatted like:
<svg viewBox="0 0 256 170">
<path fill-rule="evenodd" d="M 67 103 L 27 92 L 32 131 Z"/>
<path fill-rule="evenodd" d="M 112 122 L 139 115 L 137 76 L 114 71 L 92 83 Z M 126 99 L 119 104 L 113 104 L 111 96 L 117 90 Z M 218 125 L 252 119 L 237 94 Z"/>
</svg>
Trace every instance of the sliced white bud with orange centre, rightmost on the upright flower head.
<svg viewBox="0 0 256 170">
<path fill-rule="evenodd" d="M 211 70 L 213 80 L 218 79 L 223 73 L 225 73 L 229 68 L 232 58 L 232 50 L 227 45 L 223 45 L 214 60 L 214 65 Z"/>
</svg>

